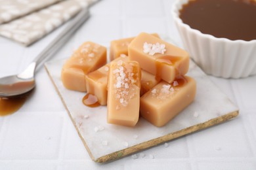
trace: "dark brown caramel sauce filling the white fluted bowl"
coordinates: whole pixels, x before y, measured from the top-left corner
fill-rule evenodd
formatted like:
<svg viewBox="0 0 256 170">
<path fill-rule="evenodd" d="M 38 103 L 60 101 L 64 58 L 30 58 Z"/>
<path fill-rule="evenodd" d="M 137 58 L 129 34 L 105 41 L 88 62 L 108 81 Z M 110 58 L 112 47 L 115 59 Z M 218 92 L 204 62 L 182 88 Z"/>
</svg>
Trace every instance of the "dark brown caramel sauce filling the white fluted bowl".
<svg viewBox="0 0 256 170">
<path fill-rule="evenodd" d="M 256 39 L 255 0 L 193 0 L 180 10 L 182 22 L 202 33 L 230 40 Z"/>
</svg>

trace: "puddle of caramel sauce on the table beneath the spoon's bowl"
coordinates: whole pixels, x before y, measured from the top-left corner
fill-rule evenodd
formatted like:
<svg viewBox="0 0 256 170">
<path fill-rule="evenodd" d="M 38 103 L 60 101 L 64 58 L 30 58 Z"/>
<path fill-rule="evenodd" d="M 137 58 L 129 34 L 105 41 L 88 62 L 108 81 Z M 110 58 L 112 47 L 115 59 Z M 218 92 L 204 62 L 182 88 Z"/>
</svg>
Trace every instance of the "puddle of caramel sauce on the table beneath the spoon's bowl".
<svg viewBox="0 0 256 170">
<path fill-rule="evenodd" d="M 7 116 L 16 112 L 25 103 L 31 92 L 15 97 L 0 97 L 0 116 Z"/>
</svg>

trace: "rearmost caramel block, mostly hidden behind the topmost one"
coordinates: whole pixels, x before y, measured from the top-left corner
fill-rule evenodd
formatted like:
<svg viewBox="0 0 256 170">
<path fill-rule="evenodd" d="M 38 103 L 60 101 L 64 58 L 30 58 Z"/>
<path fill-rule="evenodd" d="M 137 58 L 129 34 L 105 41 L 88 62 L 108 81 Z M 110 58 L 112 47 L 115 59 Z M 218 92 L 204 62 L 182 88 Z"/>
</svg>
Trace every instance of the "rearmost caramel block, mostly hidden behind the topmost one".
<svg viewBox="0 0 256 170">
<path fill-rule="evenodd" d="M 159 37 L 157 33 L 152 33 L 154 37 Z M 118 39 L 110 42 L 110 61 L 119 57 L 121 54 L 128 56 L 128 46 L 133 41 L 135 37 L 130 37 L 126 39 Z"/>
</svg>

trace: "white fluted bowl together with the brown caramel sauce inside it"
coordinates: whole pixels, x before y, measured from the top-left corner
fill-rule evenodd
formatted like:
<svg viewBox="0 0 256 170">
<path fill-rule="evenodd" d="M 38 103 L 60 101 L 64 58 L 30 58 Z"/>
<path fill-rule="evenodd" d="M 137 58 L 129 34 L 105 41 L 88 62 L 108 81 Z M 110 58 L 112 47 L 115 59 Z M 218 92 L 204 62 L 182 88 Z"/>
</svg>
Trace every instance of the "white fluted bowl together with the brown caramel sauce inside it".
<svg viewBox="0 0 256 170">
<path fill-rule="evenodd" d="M 208 75 L 256 75 L 256 0 L 177 0 L 171 9 L 190 57 Z"/>
</svg>

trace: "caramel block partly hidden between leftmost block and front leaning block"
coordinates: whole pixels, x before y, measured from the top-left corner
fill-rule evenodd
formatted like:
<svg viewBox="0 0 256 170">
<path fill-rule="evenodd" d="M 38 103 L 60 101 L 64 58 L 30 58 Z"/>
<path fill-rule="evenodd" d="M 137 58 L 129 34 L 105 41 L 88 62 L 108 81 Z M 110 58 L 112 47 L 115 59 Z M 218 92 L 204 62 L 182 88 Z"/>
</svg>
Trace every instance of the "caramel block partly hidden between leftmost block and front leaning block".
<svg viewBox="0 0 256 170">
<path fill-rule="evenodd" d="M 114 59 L 114 61 L 129 61 L 128 56 L 121 54 L 121 57 Z M 100 67 L 96 71 L 85 75 L 87 93 L 91 93 L 98 98 L 100 105 L 107 104 L 107 84 L 108 84 L 108 71 L 110 69 L 110 63 Z"/>
</svg>

